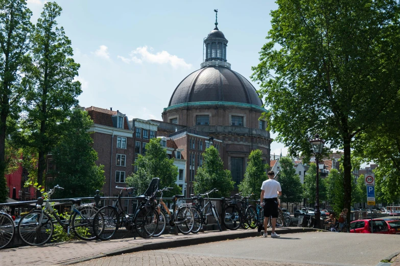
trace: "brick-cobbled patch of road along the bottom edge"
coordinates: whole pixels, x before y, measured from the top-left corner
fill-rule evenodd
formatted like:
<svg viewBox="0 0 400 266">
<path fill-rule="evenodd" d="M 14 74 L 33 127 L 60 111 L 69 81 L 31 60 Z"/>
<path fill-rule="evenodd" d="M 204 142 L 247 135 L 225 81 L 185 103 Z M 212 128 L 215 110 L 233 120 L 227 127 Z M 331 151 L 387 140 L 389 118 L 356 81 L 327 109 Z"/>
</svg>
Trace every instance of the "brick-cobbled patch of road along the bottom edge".
<svg viewBox="0 0 400 266">
<path fill-rule="evenodd" d="M 177 253 L 163 253 L 157 251 L 142 251 L 131 254 L 124 254 L 114 257 L 105 257 L 99 259 L 88 260 L 82 263 L 74 264 L 74 266 L 317 266 L 320 264 L 304 264 L 291 262 L 276 262 L 254 259 L 225 258 L 213 256 L 192 256 Z"/>
</svg>

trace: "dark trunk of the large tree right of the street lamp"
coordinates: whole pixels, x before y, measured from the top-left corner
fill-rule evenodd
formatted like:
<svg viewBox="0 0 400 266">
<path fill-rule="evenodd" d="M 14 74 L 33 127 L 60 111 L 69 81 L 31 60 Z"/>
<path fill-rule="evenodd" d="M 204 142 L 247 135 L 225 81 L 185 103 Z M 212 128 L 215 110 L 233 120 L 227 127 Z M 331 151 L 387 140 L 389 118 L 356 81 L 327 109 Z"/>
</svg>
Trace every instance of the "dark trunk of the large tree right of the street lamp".
<svg viewBox="0 0 400 266">
<path fill-rule="evenodd" d="M 351 150 L 350 150 L 351 140 L 349 137 L 345 137 L 343 140 L 344 144 L 344 159 L 343 159 L 343 188 L 344 188 L 344 208 L 348 209 L 347 214 L 347 224 L 350 224 L 350 209 L 351 209 Z"/>
</svg>

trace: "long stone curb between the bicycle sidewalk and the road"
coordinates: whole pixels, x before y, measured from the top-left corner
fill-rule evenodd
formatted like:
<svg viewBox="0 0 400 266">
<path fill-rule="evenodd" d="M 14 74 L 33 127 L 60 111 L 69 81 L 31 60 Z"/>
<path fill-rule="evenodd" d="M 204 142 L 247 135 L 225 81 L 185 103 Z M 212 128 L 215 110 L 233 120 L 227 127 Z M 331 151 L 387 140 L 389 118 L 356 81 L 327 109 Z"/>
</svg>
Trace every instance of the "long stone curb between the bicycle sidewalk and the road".
<svg viewBox="0 0 400 266">
<path fill-rule="evenodd" d="M 275 231 L 279 234 L 287 234 L 287 233 L 302 233 L 302 232 L 315 232 L 318 229 L 314 228 L 306 228 L 306 227 L 297 227 L 297 228 L 276 228 Z M 263 231 L 262 231 L 263 232 Z M 210 242 L 218 242 L 218 241 L 225 241 L 225 240 L 234 240 L 238 238 L 247 238 L 247 237 L 254 237 L 260 236 L 261 232 L 257 232 L 257 230 L 249 230 L 249 231 L 232 231 L 231 234 L 223 234 L 223 235 L 204 235 L 203 237 L 196 237 L 196 238 L 181 238 L 178 240 L 170 240 L 158 243 L 148 243 L 143 245 L 136 245 L 135 247 L 126 247 L 120 249 L 110 250 L 108 252 L 100 253 L 93 256 L 82 257 L 79 259 L 69 260 L 58 265 L 69 265 L 78 262 L 83 262 L 91 259 L 107 257 L 107 256 L 115 256 L 127 253 L 133 253 L 138 251 L 146 251 L 146 250 L 158 250 L 158 249 L 165 249 L 165 248 L 178 248 L 183 246 L 191 246 L 191 245 L 198 245 L 198 244 L 205 244 Z M 393 256 L 394 257 L 394 256 Z"/>
</svg>

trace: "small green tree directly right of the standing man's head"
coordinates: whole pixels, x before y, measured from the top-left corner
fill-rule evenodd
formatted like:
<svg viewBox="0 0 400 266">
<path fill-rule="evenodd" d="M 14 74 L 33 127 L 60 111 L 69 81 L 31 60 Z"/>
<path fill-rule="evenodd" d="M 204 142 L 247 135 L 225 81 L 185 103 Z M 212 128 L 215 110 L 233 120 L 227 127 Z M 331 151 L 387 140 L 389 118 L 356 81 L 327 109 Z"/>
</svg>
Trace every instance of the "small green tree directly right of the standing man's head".
<svg viewBox="0 0 400 266">
<path fill-rule="evenodd" d="M 299 175 L 296 174 L 293 162 L 288 157 L 282 157 L 279 160 L 280 172 L 278 181 L 280 188 L 282 189 L 282 196 L 280 200 L 286 202 L 286 207 L 289 206 L 289 202 L 297 203 L 302 201 L 302 187 Z"/>
</svg>

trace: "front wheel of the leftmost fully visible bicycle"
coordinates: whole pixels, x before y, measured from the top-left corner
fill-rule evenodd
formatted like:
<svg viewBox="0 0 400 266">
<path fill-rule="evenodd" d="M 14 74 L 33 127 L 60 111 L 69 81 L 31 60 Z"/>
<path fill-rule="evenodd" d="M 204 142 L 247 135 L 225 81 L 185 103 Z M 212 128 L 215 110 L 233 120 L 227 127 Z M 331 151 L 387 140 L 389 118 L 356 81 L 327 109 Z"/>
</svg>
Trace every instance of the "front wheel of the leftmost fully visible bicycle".
<svg viewBox="0 0 400 266">
<path fill-rule="evenodd" d="M 41 219 L 41 223 L 39 221 Z M 50 215 L 33 211 L 22 216 L 18 223 L 18 234 L 29 246 L 40 246 L 48 243 L 53 236 L 53 221 Z"/>
</svg>

